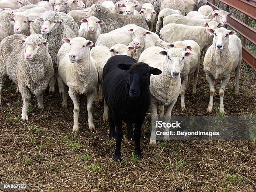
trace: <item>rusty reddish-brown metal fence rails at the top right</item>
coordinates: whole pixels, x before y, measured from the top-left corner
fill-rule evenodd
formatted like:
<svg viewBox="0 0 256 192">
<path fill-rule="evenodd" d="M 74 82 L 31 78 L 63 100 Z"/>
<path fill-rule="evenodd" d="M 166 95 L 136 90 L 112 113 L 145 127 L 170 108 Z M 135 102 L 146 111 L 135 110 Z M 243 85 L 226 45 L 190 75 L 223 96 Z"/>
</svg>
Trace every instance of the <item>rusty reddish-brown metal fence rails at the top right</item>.
<svg viewBox="0 0 256 192">
<path fill-rule="evenodd" d="M 241 22 L 240 20 L 232 16 L 228 17 L 227 23 L 228 23 L 228 26 L 235 29 L 238 33 L 240 33 L 243 36 L 243 52 L 242 52 L 243 61 L 245 61 L 248 65 L 250 65 L 256 71 L 256 56 L 245 47 L 246 39 L 251 41 L 254 45 L 256 44 L 256 30 L 247 25 L 248 16 L 253 19 L 256 19 L 256 5 L 253 4 L 253 3 L 256 3 L 256 0 L 249 0 L 249 2 L 246 0 L 219 0 L 219 1 L 241 11 L 246 15 L 245 23 Z M 210 5 L 213 8 L 213 10 L 220 10 L 220 8 L 218 8 L 215 5 L 215 0 L 212 0 L 212 3 L 208 2 L 208 5 Z"/>
</svg>

